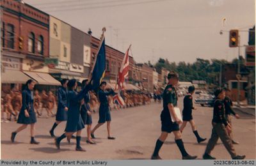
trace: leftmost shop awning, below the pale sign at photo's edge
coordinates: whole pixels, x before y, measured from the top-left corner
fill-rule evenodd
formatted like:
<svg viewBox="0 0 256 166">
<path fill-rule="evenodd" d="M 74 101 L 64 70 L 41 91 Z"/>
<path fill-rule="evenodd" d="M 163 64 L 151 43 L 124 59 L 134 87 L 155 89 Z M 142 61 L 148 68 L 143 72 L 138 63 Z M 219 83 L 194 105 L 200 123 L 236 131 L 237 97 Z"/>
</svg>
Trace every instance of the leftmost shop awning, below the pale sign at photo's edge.
<svg viewBox="0 0 256 166">
<path fill-rule="evenodd" d="M 4 70 L 1 73 L 1 82 L 5 84 L 25 84 L 29 79 L 30 77 L 18 70 Z"/>
</svg>

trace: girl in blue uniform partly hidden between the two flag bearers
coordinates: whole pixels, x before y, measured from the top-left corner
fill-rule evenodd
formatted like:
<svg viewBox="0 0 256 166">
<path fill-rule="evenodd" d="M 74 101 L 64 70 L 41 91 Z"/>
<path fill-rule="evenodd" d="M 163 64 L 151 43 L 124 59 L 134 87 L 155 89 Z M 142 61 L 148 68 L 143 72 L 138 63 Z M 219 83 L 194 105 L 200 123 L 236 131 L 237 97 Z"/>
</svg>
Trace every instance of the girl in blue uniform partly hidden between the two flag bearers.
<svg viewBox="0 0 256 166">
<path fill-rule="evenodd" d="M 85 87 L 88 84 L 88 80 L 83 80 L 82 86 Z M 92 128 L 92 110 L 90 108 L 90 93 L 86 93 L 84 96 L 84 103 L 81 106 L 81 117 L 84 124 L 87 125 L 87 140 L 88 144 L 96 144 L 93 142 L 91 137 L 91 128 Z"/>
</svg>

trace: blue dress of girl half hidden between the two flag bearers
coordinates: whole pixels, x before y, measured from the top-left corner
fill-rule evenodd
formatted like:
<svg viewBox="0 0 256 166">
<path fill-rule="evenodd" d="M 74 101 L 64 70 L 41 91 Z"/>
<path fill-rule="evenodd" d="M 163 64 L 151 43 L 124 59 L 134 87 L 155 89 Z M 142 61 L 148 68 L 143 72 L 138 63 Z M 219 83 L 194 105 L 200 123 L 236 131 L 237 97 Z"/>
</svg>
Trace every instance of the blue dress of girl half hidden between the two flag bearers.
<svg viewBox="0 0 256 166">
<path fill-rule="evenodd" d="M 83 119 L 84 124 L 92 124 L 92 116 L 87 114 L 87 111 L 90 111 L 90 94 L 86 93 L 84 96 L 84 104 L 81 107 L 81 117 Z"/>
</svg>

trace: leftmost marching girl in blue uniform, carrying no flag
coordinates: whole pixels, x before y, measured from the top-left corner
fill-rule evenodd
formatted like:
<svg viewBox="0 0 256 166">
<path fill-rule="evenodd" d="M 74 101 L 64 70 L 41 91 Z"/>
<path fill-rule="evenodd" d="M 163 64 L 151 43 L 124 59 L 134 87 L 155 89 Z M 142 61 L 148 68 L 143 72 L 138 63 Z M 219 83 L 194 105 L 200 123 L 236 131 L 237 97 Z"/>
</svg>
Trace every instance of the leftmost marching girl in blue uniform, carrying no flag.
<svg viewBox="0 0 256 166">
<path fill-rule="evenodd" d="M 28 124 L 30 124 L 30 133 L 31 133 L 31 141 L 30 144 L 39 144 L 35 140 L 35 123 L 36 123 L 36 113 L 34 110 L 34 99 L 33 99 L 33 89 L 35 87 L 35 80 L 29 79 L 26 82 L 26 89 L 22 91 L 22 107 L 20 110 L 20 114 L 17 120 L 17 123 L 22 124 L 15 132 L 12 132 L 11 140 L 14 142 L 15 136 L 17 133 L 21 132 L 25 128 L 27 128 Z"/>
</svg>

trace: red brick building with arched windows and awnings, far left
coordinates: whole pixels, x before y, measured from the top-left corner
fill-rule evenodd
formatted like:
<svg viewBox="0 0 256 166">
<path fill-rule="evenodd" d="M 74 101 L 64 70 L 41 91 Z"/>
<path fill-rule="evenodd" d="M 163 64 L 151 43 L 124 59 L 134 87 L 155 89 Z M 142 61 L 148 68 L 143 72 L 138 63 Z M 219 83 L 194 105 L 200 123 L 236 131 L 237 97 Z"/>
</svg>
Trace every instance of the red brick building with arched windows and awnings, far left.
<svg viewBox="0 0 256 166">
<path fill-rule="evenodd" d="M 49 57 L 49 15 L 12 0 L 1 1 L 1 11 L 3 91 L 15 84 L 20 89 L 30 77 L 42 85 L 58 85 L 44 66 Z"/>
</svg>

